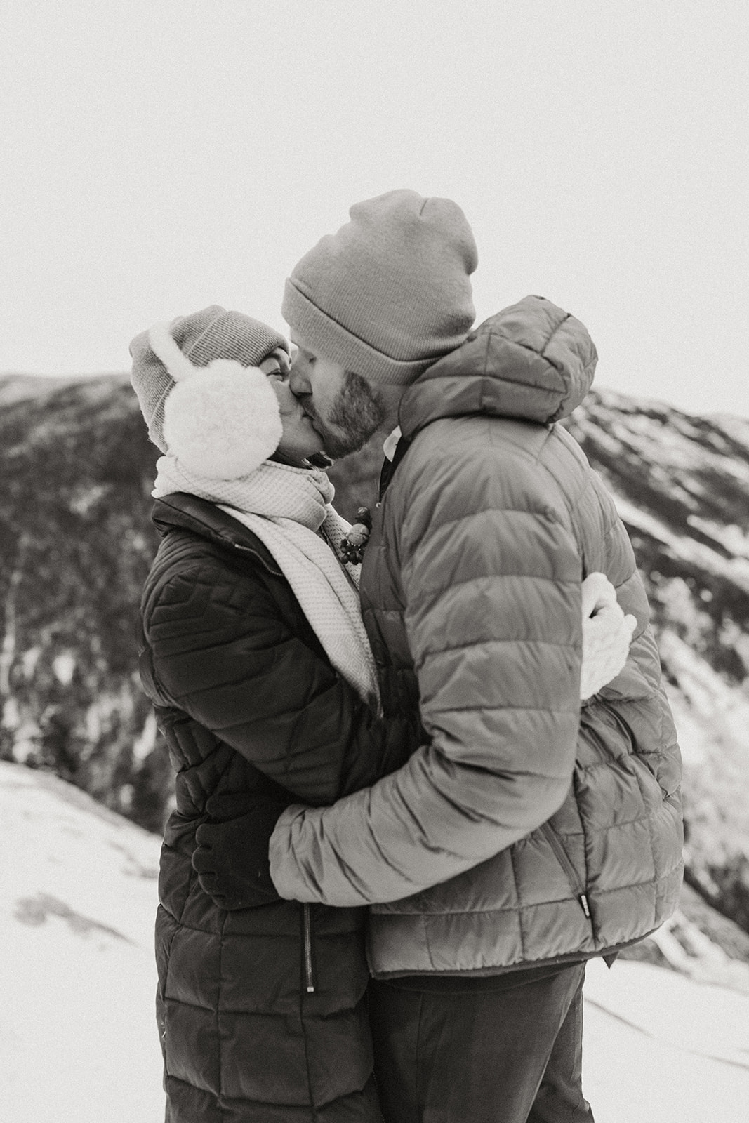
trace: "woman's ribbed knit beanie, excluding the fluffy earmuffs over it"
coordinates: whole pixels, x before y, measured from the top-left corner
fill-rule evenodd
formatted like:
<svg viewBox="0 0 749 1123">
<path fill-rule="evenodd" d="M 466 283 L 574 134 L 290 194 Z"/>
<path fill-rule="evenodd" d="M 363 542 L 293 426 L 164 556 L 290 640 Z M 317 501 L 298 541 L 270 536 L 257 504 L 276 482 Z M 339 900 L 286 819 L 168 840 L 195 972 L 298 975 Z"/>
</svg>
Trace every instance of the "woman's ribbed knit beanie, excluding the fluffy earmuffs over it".
<svg viewBox="0 0 749 1123">
<path fill-rule="evenodd" d="M 211 304 L 192 316 L 181 316 L 170 323 L 170 335 L 193 366 L 208 366 L 214 359 L 236 359 L 241 366 L 257 366 L 275 347 L 289 349 L 284 337 L 259 320 L 243 312 L 228 312 Z M 162 453 L 164 402 L 175 381 L 153 350 L 149 332 L 143 331 L 130 344 L 130 381 L 148 426 L 148 436 Z"/>
</svg>

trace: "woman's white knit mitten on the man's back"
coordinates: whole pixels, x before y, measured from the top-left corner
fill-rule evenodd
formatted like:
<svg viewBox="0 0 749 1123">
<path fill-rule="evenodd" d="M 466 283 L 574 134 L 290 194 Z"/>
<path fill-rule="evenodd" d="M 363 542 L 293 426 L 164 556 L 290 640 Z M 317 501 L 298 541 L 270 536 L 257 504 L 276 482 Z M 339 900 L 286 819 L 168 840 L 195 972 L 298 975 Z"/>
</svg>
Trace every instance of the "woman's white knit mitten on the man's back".
<svg viewBox="0 0 749 1123">
<path fill-rule="evenodd" d="M 581 699 L 597 694 L 622 670 L 636 627 L 636 618 L 624 615 L 605 574 L 588 574 L 583 582 Z"/>
</svg>

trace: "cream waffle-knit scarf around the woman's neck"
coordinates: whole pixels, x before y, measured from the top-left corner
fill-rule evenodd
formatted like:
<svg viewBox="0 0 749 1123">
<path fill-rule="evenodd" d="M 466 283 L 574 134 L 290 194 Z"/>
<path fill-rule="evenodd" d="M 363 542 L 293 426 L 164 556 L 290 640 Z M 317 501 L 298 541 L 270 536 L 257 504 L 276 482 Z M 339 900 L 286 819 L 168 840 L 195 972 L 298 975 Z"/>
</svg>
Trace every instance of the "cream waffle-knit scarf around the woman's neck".
<svg viewBox="0 0 749 1123">
<path fill-rule="evenodd" d="M 359 567 L 344 568 L 338 560 L 349 526 L 330 505 L 335 490 L 325 472 L 265 460 L 239 480 L 210 480 L 188 472 L 170 455 L 159 457 L 156 468 L 155 499 L 189 492 L 216 503 L 257 535 L 278 563 L 332 666 L 378 709 L 375 663 L 357 592 Z"/>
</svg>

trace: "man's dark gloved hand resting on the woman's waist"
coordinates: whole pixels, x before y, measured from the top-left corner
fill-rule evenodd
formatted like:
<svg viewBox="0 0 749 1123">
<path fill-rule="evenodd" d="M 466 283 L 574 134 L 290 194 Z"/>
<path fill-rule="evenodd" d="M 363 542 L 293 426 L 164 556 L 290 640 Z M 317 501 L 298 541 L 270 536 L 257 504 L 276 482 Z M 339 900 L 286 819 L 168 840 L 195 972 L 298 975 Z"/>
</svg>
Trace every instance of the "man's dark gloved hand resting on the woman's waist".
<svg viewBox="0 0 749 1123">
<path fill-rule="evenodd" d="M 241 814 L 226 819 L 226 797 L 209 798 L 207 812 L 211 814 L 213 800 L 222 801 L 223 821 L 198 828 L 198 847 L 192 856 L 202 889 L 219 909 L 252 909 L 278 901 L 271 880 L 268 843 L 286 804 L 268 796 L 237 793 L 234 810 L 241 807 Z"/>
</svg>

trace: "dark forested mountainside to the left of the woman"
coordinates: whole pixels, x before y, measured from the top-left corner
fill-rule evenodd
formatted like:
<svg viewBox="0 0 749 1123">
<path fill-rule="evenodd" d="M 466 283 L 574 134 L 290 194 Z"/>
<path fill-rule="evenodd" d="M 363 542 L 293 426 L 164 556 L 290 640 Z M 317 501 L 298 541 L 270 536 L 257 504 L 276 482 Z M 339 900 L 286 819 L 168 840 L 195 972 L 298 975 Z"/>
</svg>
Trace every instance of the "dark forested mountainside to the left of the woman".
<svg viewBox="0 0 749 1123">
<path fill-rule="evenodd" d="M 158 829 L 170 765 L 136 659 L 156 456 L 124 377 L 0 378 L 0 758 Z"/>
</svg>

